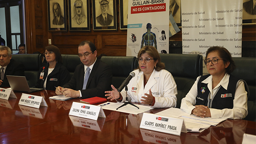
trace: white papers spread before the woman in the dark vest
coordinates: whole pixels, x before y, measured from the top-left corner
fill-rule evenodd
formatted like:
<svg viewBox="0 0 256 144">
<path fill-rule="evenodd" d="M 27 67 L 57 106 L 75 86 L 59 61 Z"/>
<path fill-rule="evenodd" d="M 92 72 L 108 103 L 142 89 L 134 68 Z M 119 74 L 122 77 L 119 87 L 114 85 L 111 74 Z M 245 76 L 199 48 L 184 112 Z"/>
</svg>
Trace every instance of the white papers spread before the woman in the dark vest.
<svg viewBox="0 0 256 144">
<path fill-rule="evenodd" d="M 169 108 L 164 111 L 160 111 L 156 113 L 158 115 L 164 115 L 168 117 L 179 117 L 184 119 L 185 125 L 188 132 L 202 132 L 205 129 L 208 129 L 211 125 L 216 126 L 221 121 L 225 121 L 226 119 L 212 119 L 210 117 L 197 117 L 195 115 L 190 115 L 185 111 L 179 108 Z"/>
</svg>

